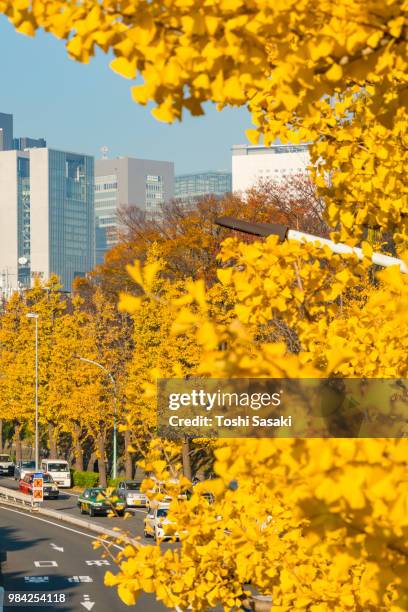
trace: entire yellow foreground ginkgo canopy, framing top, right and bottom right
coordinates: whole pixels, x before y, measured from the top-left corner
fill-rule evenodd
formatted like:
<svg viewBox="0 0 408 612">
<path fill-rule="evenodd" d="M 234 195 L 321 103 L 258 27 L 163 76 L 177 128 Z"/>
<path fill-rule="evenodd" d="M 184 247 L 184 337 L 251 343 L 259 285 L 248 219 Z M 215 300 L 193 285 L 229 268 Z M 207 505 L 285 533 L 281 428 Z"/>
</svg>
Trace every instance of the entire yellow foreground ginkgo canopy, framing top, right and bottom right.
<svg viewBox="0 0 408 612">
<path fill-rule="evenodd" d="M 169 276 L 177 240 L 138 257 L 120 308 L 142 354 L 155 350 L 146 368 L 131 361 L 131 427 L 163 365 L 187 375 L 183 350 L 199 376 L 406 378 L 408 278 L 373 269 L 370 255 L 384 233 L 401 257 L 407 247 L 407 0 L 0 0 L 0 11 L 25 34 L 64 39 L 79 61 L 113 52 L 112 69 L 161 121 L 207 101 L 246 106 L 251 141 L 310 143 L 333 237 L 366 238 L 362 262 L 318 244 L 229 239 L 212 286 Z M 189 263 L 191 235 L 179 241 Z M 249 583 L 282 612 L 403 612 L 406 450 L 391 438 L 220 441 L 216 477 L 172 504 L 180 548 L 127 546 L 106 583 L 128 604 L 144 590 L 168 607 L 229 610 Z M 165 479 L 179 459 L 179 445 L 153 440 L 143 466 Z"/>
</svg>

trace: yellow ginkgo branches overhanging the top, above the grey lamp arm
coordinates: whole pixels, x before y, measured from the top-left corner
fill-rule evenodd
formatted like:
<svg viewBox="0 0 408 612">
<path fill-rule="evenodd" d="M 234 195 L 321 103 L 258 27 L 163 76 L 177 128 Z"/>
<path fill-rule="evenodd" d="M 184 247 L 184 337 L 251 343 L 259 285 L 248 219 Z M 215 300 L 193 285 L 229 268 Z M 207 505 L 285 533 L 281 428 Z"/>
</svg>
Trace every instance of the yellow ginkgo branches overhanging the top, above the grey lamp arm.
<svg viewBox="0 0 408 612">
<path fill-rule="evenodd" d="M 330 225 L 348 240 L 364 224 L 406 240 L 405 1 L 1 0 L 0 11 L 20 32 L 65 39 L 79 61 L 113 52 L 112 69 L 141 77 L 132 96 L 161 121 L 212 100 L 247 106 L 254 142 L 312 142 L 313 162 L 334 174 Z"/>
</svg>

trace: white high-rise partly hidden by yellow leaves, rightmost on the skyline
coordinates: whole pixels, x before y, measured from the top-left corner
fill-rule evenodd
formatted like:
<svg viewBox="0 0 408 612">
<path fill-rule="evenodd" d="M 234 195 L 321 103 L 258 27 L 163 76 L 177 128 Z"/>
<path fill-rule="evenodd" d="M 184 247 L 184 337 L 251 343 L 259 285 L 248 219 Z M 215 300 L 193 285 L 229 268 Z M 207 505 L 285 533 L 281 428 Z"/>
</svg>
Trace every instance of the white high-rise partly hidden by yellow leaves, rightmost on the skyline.
<svg viewBox="0 0 408 612">
<path fill-rule="evenodd" d="M 309 164 L 307 144 L 233 145 L 232 188 L 245 192 L 262 179 L 282 181 L 306 174 Z"/>
</svg>

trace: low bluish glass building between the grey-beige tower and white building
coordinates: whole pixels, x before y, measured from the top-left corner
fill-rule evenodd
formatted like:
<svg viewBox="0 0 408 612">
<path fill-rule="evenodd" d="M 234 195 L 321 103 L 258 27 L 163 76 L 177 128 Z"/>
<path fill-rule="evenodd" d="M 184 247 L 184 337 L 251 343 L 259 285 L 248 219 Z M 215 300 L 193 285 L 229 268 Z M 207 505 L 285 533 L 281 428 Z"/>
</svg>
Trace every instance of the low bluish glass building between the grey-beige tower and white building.
<svg viewBox="0 0 408 612">
<path fill-rule="evenodd" d="M 203 196 L 222 197 L 232 191 L 231 172 L 196 172 L 176 176 L 174 196 L 186 204 L 194 204 Z"/>
</svg>

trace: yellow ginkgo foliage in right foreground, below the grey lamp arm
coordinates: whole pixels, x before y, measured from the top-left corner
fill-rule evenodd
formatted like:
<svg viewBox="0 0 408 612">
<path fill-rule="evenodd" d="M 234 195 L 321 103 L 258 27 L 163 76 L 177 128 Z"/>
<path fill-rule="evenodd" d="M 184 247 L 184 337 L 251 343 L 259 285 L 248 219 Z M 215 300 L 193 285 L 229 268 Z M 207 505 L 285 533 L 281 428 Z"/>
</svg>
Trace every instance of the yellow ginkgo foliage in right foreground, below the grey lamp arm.
<svg viewBox="0 0 408 612">
<path fill-rule="evenodd" d="M 168 342 L 195 334 L 198 376 L 405 378 L 408 279 L 390 268 L 362 295 L 370 268 L 364 248 L 367 259 L 358 264 L 326 247 L 273 237 L 228 242 L 221 258 L 233 254 L 238 265 L 221 268 L 219 277 L 235 296 L 234 316 L 219 317 L 202 282 L 191 282 L 168 303 Z M 144 280 L 157 269 L 133 271 L 145 298 L 124 296 L 122 308 L 137 313 L 144 300 L 158 299 Z M 298 333 L 298 354 L 259 335 L 275 310 Z M 148 397 L 154 387 L 146 386 Z M 389 400 L 371 417 L 387 415 Z M 174 467 L 165 460 L 169 444 L 155 443 L 143 463 L 161 479 Z M 170 608 L 235 609 L 250 597 L 250 584 L 282 612 L 406 608 L 406 440 L 219 441 L 214 470 L 217 478 L 197 485 L 189 501 L 172 504 L 168 533 L 180 534 L 179 549 L 135 543 L 118 555 L 119 572 L 109 572 L 106 584 L 117 586 L 126 603 L 144 590 Z M 187 486 L 180 482 L 174 498 Z M 213 504 L 204 493 L 212 493 Z"/>
</svg>

